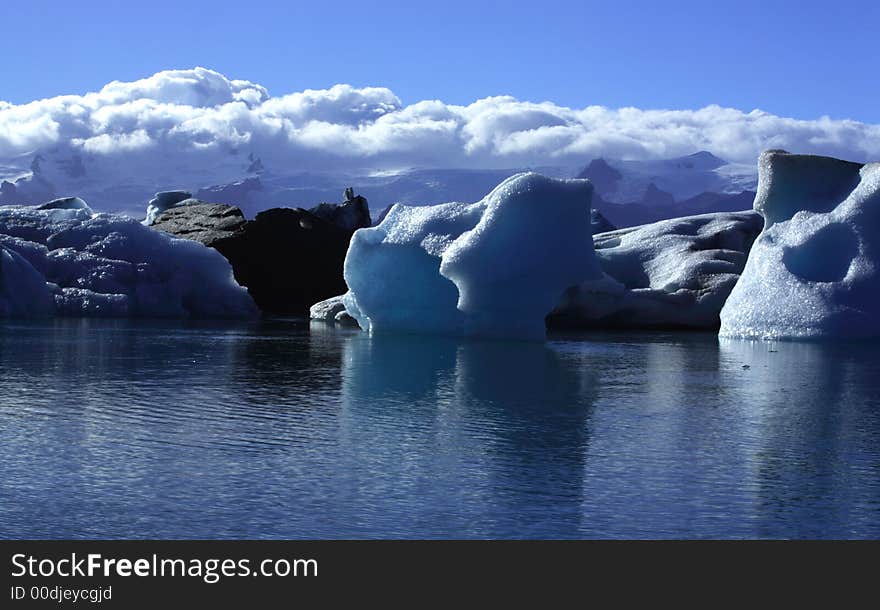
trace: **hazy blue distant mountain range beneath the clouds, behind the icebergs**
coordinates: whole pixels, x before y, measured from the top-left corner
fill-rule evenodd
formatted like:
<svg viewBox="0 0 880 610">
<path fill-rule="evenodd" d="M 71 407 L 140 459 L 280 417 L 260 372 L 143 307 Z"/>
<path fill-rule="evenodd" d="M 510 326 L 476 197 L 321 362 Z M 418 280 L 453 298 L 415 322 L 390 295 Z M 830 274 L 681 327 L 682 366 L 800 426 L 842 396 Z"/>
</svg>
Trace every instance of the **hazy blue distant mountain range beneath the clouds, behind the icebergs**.
<svg viewBox="0 0 880 610">
<path fill-rule="evenodd" d="M 253 154 L 227 166 L 179 168 L 132 175 L 125 167 L 103 167 L 64 149 L 0 161 L 0 205 L 40 203 L 77 195 L 94 209 L 142 217 L 157 191 L 185 189 L 199 199 L 230 203 L 252 217 L 278 206 L 310 208 L 339 201 L 354 187 L 370 202 L 373 218 L 394 203 L 429 205 L 476 201 L 499 182 L 531 169 L 555 177 L 589 178 L 593 207 L 624 227 L 709 211 L 751 207 L 754 166 L 733 164 L 709 152 L 653 161 L 593 159 L 583 168 L 406 169 L 400 171 L 307 173 L 267 167 Z"/>
</svg>

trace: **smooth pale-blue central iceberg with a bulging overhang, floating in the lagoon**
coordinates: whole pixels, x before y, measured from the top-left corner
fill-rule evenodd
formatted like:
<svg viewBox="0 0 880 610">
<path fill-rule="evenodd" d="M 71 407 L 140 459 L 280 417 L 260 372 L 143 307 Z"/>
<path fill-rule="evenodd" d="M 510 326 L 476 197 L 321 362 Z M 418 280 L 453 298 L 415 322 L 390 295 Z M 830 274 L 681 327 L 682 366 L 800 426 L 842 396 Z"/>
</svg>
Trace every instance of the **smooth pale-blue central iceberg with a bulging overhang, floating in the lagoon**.
<svg viewBox="0 0 880 610">
<path fill-rule="evenodd" d="M 474 204 L 396 205 L 351 240 L 346 310 L 371 332 L 543 338 L 565 289 L 602 276 L 592 189 L 526 173 Z"/>
</svg>

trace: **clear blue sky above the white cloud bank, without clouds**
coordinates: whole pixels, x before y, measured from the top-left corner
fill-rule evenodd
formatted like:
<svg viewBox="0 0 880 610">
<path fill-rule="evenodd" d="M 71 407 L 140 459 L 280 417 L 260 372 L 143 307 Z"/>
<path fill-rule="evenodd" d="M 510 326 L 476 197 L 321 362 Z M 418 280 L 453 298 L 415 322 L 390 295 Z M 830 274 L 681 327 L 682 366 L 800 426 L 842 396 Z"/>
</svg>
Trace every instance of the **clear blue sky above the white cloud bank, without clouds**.
<svg viewBox="0 0 880 610">
<path fill-rule="evenodd" d="M 0 99 L 201 65 L 273 94 L 335 83 L 404 103 L 761 108 L 880 122 L 880 2 L 9 0 Z"/>
</svg>

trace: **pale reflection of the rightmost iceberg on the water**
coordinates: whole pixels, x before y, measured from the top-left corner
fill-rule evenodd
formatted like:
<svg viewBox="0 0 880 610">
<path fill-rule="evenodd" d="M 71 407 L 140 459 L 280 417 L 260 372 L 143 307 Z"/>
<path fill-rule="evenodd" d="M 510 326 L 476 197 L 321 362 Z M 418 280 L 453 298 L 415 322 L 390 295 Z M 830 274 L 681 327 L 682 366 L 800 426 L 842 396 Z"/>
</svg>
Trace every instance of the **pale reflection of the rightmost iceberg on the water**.
<svg viewBox="0 0 880 610">
<path fill-rule="evenodd" d="M 756 535 L 878 532 L 880 361 L 859 343 L 722 340 L 752 452 Z M 873 507 L 858 510 L 857 507 Z M 780 531 L 780 524 L 787 531 Z"/>
</svg>

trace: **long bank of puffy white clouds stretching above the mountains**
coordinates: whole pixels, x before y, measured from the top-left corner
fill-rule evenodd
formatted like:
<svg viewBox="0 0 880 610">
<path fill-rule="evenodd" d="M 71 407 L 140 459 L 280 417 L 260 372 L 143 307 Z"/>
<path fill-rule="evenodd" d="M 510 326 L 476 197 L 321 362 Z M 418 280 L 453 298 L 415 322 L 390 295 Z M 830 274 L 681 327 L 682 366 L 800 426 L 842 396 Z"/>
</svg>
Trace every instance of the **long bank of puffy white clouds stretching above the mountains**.
<svg viewBox="0 0 880 610">
<path fill-rule="evenodd" d="M 753 110 L 567 108 L 489 97 L 404 104 L 389 89 L 336 85 L 272 96 L 205 68 L 169 70 L 98 92 L 0 101 L 0 160 L 59 148 L 135 167 L 222 164 L 253 153 L 287 171 L 581 165 L 708 150 L 753 163 L 767 148 L 866 161 L 880 125 L 795 120 Z"/>
</svg>

